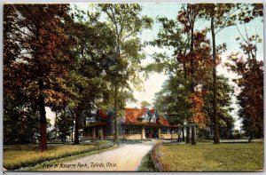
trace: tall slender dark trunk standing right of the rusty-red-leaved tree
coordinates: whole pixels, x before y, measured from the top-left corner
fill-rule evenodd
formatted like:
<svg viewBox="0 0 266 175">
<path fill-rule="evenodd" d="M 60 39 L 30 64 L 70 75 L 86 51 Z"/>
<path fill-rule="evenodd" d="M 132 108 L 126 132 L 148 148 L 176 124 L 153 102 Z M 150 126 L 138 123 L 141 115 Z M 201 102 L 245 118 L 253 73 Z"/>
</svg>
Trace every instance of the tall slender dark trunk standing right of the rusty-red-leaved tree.
<svg viewBox="0 0 266 175">
<path fill-rule="evenodd" d="M 213 7 L 213 11 L 215 11 Z M 217 84 L 216 84 L 216 45 L 215 45 L 215 21 L 214 15 L 211 17 L 211 33 L 213 40 L 213 80 L 214 80 L 214 144 L 220 143 L 219 128 L 218 128 L 218 115 L 217 115 Z"/>
</svg>

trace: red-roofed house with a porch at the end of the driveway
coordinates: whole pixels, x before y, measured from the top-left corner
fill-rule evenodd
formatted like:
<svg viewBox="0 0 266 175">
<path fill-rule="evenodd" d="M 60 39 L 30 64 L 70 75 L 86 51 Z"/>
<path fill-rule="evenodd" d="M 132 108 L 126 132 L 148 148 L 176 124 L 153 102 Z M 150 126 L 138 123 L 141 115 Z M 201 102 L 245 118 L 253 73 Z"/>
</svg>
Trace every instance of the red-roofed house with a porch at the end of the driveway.
<svg viewBox="0 0 266 175">
<path fill-rule="evenodd" d="M 154 108 L 146 107 L 124 109 L 124 116 L 119 121 L 120 139 L 177 139 L 180 125 L 171 125 Z M 113 114 L 99 109 L 86 118 L 83 139 L 113 138 Z"/>
</svg>

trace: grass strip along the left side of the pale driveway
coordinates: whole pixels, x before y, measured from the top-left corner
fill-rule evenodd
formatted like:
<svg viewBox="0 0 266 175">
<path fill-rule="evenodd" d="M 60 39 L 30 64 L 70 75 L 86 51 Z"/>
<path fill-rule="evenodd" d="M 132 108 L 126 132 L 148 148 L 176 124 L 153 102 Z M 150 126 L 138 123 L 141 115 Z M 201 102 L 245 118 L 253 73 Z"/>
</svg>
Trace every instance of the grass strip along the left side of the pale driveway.
<svg viewBox="0 0 266 175">
<path fill-rule="evenodd" d="M 37 163 L 71 155 L 79 155 L 112 146 L 113 144 L 110 141 L 98 141 L 81 145 L 49 144 L 48 149 L 42 153 L 38 145 L 14 145 L 4 148 L 4 168 L 7 170 L 16 170 L 34 166 Z"/>
</svg>

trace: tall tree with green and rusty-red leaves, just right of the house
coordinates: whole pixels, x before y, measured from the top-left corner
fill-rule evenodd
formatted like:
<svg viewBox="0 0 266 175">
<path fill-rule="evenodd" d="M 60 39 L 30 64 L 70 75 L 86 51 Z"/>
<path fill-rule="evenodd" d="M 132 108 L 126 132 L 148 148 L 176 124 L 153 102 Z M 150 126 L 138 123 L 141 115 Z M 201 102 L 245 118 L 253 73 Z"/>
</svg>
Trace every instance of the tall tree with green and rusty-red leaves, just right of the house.
<svg viewBox="0 0 266 175">
<path fill-rule="evenodd" d="M 152 42 L 152 44 L 160 47 L 174 48 L 174 60 L 166 59 L 161 54 L 153 55 L 156 60 L 155 68 L 163 69 L 164 67 L 168 72 L 176 74 L 176 68 L 182 65 L 184 79 L 191 84 L 189 99 L 192 101 L 192 111 L 195 113 L 187 118 L 188 123 L 193 123 L 193 118 L 199 116 L 196 115 L 197 104 L 194 103 L 199 91 L 195 91 L 195 88 L 204 83 L 204 77 L 207 76 L 207 69 L 210 65 L 209 42 L 206 38 L 207 30 L 199 31 L 195 29 L 199 13 L 200 8 L 197 4 L 183 4 L 182 9 L 178 12 L 176 22 L 159 18 L 163 28 L 158 34 L 158 39 Z M 154 68 L 154 65 L 151 68 Z M 198 112 L 200 112 L 199 109 L 198 107 Z M 187 126 L 186 142 L 190 142 L 189 125 Z M 196 144 L 194 124 L 192 124 L 192 144 Z"/>
</svg>

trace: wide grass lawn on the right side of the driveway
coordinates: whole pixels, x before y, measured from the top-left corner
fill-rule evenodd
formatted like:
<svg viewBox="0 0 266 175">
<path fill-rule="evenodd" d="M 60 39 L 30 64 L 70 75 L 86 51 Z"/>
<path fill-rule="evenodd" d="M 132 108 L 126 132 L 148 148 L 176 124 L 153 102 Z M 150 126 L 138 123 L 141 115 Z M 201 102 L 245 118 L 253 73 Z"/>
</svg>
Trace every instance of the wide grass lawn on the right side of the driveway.
<svg viewBox="0 0 266 175">
<path fill-rule="evenodd" d="M 163 144 L 160 161 L 170 171 L 262 171 L 263 142 L 196 146 Z"/>
</svg>

